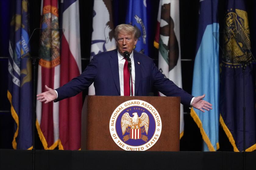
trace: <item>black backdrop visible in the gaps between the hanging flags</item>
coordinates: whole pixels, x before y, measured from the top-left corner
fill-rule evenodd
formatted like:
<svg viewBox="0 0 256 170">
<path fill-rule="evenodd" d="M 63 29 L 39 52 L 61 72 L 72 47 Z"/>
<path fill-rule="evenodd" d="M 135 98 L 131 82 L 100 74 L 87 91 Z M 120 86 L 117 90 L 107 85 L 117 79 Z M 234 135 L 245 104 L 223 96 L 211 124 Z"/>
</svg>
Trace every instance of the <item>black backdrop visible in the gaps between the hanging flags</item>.
<svg viewBox="0 0 256 170">
<path fill-rule="evenodd" d="M 113 0 L 113 17 L 114 25 L 119 25 L 125 22 L 125 14 L 127 7 L 127 0 Z M 224 19 L 225 2 L 219 0 L 219 21 L 220 29 L 222 28 L 222 21 Z M 40 0 L 29 0 L 30 3 L 30 33 L 35 28 L 40 28 Z M 247 12 L 250 23 L 251 37 L 256 37 L 254 34 L 255 25 L 253 25 L 253 18 L 256 17 L 254 12 L 254 1 L 247 0 Z M 0 148 L 12 148 L 13 138 L 13 124 L 14 121 L 10 114 L 10 104 L 7 99 L 7 73 L 8 73 L 8 37 L 9 37 L 9 23 L 10 23 L 10 2 L 8 0 L 0 0 L 1 9 L 4 6 L 5 11 L 0 13 Z M 90 62 L 91 50 L 91 33 L 92 33 L 92 11 L 93 0 L 80 0 L 80 36 L 81 36 L 81 55 L 82 55 L 82 70 Z M 148 25 L 152 32 L 155 32 L 156 19 L 158 13 L 159 0 L 151 0 L 151 5 L 148 5 L 148 12 L 151 19 L 148 20 Z M 61 9 L 59 9 L 61 11 Z M 193 68 L 195 58 L 195 45 L 197 37 L 199 0 L 180 0 L 180 46 L 181 46 L 181 65 L 182 65 L 182 82 L 183 89 L 191 93 Z M 61 21 L 60 21 L 61 22 Z M 154 59 L 155 64 L 158 65 L 158 50 L 154 48 L 155 34 L 148 35 L 149 42 L 151 42 L 150 57 Z M 251 38 L 252 44 L 255 39 Z M 32 51 L 37 51 L 38 47 L 31 44 Z M 253 51 L 254 52 L 254 51 Z M 255 52 L 254 52 L 255 53 Z M 254 55 L 255 56 L 255 55 Z M 83 97 L 87 95 L 87 90 L 83 92 Z M 184 108 L 184 136 L 180 140 L 181 151 L 201 151 L 202 137 L 199 128 L 194 123 L 190 116 L 189 108 Z M 229 144 L 226 135 L 220 127 L 220 149 L 219 151 L 233 151 L 231 144 Z M 41 141 L 36 136 L 36 149 L 42 149 Z"/>
</svg>

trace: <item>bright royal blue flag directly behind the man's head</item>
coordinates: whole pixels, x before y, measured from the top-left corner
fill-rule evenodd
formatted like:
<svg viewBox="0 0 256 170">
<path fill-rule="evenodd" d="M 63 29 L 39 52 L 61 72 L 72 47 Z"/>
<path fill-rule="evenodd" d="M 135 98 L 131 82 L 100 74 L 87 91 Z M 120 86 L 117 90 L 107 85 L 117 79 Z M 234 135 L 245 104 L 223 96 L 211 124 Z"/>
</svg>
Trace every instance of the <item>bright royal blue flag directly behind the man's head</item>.
<svg viewBox="0 0 256 170">
<path fill-rule="evenodd" d="M 147 17 L 146 1 L 129 0 L 126 24 L 133 25 L 140 32 L 135 50 L 148 56 Z"/>
</svg>

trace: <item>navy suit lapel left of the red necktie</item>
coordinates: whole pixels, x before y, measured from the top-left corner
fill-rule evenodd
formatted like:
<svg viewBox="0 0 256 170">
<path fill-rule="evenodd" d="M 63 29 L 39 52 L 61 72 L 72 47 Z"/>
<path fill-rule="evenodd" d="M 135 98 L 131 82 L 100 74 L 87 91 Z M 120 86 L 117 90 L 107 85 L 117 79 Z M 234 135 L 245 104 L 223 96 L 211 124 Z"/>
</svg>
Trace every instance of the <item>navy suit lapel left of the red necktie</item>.
<svg viewBox="0 0 256 170">
<path fill-rule="evenodd" d="M 109 59 L 109 64 L 111 67 L 111 72 L 112 72 L 114 82 L 116 84 L 116 88 L 117 88 L 119 96 L 120 96 L 121 93 L 120 93 L 119 66 L 118 66 L 117 50 L 113 50 L 113 53 L 110 56 L 111 56 L 111 58 Z"/>
</svg>

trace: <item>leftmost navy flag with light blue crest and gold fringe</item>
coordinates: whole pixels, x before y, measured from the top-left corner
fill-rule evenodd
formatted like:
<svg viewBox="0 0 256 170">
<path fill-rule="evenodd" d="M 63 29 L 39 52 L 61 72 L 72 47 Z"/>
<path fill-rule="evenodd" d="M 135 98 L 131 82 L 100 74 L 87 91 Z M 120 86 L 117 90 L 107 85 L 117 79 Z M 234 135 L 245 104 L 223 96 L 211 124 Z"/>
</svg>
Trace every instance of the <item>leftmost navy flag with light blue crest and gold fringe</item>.
<svg viewBox="0 0 256 170">
<path fill-rule="evenodd" d="M 11 114 L 15 120 L 14 149 L 32 149 L 32 73 L 29 41 L 28 1 L 12 4 L 10 23 L 8 91 Z"/>
</svg>

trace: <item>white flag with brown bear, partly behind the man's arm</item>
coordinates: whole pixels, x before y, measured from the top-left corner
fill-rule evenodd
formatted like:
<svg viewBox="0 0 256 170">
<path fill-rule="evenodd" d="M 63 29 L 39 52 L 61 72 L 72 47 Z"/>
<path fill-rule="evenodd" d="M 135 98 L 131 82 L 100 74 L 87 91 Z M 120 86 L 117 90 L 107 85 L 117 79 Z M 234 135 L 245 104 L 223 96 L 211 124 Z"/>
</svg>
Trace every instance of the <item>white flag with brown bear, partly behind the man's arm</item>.
<svg viewBox="0 0 256 170">
<path fill-rule="evenodd" d="M 158 69 L 182 88 L 179 1 L 160 0 L 154 46 L 159 49 Z M 159 94 L 164 96 L 160 92 Z M 180 138 L 183 133 L 183 105 L 180 104 Z"/>
</svg>

